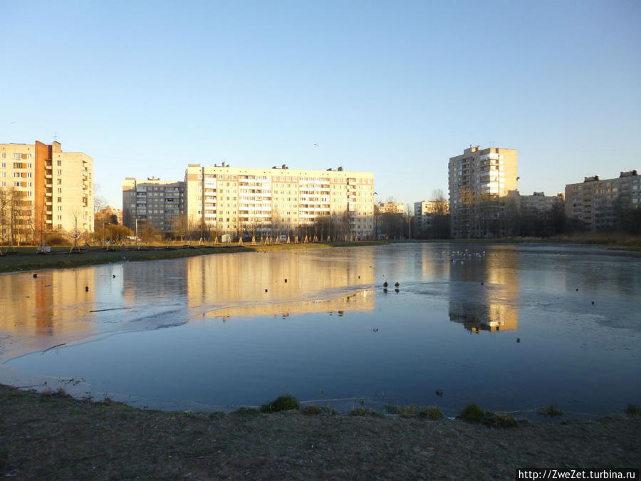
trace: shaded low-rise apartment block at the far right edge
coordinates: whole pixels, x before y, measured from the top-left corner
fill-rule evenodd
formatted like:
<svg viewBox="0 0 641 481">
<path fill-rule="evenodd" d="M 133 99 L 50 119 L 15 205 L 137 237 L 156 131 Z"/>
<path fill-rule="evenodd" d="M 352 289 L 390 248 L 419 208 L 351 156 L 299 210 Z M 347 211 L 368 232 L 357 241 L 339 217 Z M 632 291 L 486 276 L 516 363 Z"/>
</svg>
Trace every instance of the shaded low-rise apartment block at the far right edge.
<svg viewBox="0 0 641 481">
<path fill-rule="evenodd" d="M 618 178 L 585 177 L 566 185 L 566 217 L 583 222 L 590 230 L 615 227 L 618 213 L 641 205 L 641 177 L 636 170 L 621 172 Z"/>
</svg>

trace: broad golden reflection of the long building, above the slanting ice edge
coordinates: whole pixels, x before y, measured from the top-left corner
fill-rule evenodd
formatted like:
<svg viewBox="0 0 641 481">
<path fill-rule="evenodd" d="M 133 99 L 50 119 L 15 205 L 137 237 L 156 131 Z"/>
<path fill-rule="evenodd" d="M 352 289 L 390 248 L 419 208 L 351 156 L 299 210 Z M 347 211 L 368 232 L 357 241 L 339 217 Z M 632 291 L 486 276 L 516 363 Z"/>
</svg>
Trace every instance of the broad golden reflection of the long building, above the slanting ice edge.
<svg viewBox="0 0 641 481">
<path fill-rule="evenodd" d="M 192 257 L 187 259 L 188 304 L 196 307 L 241 303 L 248 305 L 246 309 L 258 304 L 262 314 L 271 303 L 299 301 L 329 289 L 374 282 L 375 269 L 366 259 L 341 260 L 335 262 L 322 254 L 304 252 Z"/>
</svg>

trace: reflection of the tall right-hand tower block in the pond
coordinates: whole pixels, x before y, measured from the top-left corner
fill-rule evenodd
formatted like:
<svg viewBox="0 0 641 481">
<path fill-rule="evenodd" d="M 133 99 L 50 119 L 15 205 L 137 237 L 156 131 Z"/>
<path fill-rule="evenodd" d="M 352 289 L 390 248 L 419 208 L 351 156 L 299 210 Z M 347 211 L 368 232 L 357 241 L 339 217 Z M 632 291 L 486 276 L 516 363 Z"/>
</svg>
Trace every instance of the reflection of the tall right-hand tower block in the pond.
<svg viewBox="0 0 641 481">
<path fill-rule="evenodd" d="M 474 333 L 517 329 L 516 252 L 502 247 L 489 255 L 475 254 L 471 253 L 463 263 L 451 263 L 449 320 L 462 323 Z"/>
</svg>

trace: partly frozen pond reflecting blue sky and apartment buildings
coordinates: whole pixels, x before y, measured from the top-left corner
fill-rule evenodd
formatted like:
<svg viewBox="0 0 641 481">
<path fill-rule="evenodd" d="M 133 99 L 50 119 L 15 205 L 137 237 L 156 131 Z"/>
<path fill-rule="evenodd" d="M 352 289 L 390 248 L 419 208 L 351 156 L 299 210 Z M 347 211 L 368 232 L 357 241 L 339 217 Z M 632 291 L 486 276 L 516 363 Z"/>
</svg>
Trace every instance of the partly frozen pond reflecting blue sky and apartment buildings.
<svg viewBox="0 0 641 481">
<path fill-rule="evenodd" d="M 397 244 L 5 274 L 1 353 L 69 343 L 9 366 L 169 408 L 291 392 L 449 414 L 470 401 L 606 413 L 641 401 L 640 260 L 591 247 Z"/>
</svg>

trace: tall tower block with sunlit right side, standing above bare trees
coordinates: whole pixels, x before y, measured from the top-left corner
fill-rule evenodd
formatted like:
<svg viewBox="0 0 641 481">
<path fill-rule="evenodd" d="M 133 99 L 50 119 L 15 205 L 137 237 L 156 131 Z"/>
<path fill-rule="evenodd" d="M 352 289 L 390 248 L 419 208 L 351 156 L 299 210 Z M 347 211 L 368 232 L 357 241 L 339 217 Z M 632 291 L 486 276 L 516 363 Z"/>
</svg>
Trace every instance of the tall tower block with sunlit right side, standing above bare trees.
<svg viewBox="0 0 641 481">
<path fill-rule="evenodd" d="M 452 237 L 501 235 L 501 197 L 516 190 L 516 149 L 479 145 L 449 159 Z"/>
</svg>

